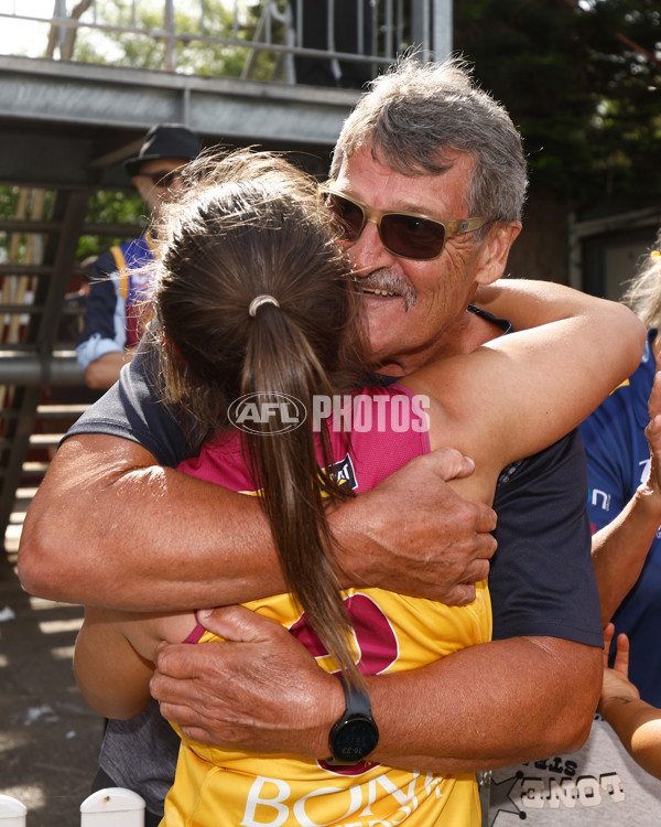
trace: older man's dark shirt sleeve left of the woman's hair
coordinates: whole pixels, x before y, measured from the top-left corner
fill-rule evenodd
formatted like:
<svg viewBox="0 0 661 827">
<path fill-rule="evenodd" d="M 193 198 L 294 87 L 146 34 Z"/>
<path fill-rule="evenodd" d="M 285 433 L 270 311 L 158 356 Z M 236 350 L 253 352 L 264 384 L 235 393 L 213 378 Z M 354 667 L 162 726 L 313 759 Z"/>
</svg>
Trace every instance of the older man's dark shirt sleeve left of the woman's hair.
<svg viewBox="0 0 661 827">
<path fill-rule="evenodd" d="M 176 468 L 194 444 L 193 428 L 184 427 L 154 389 L 153 354 L 141 345 L 122 367 L 119 380 L 69 428 L 68 437 L 106 433 L 128 439 L 150 451 L 160 465 Z"/>
</svg>

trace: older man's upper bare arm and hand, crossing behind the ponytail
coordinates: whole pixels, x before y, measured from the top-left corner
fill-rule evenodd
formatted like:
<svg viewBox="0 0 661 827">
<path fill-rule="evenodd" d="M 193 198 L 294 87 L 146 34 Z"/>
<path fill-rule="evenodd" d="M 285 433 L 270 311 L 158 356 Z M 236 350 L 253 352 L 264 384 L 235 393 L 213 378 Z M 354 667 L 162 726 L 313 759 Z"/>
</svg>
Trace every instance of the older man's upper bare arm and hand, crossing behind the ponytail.
<svg viewBox="0 0 661 827">
<path fill-rule="evenodd" d="M 338 508 L 343 582 L 473 600 L 466 583 L 488 573 L 496 519 L 444 482 L 470 470 L 456 451 L 421 457 Z M 284 588 L 253 497 L 101 434 L 59 449 L 25 519 L 19 573 L 34 594 L 136 611 L 243 602 Z"/>
</svg>

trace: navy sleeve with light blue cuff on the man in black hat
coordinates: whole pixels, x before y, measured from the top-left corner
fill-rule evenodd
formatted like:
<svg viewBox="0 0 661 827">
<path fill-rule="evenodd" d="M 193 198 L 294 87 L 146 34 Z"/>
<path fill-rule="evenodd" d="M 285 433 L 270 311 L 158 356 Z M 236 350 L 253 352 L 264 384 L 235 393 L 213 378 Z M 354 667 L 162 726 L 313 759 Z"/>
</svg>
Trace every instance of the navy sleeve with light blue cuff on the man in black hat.
<svg viewBox="0 0 661 827">
<path fill-rule="evenodd" d="M 123 352 L 126 310 L 117 283 L 117 268 L 112 254 L 108 251 L 95 264 L 83 331 L 76 343 L 76 359 L 82 370 L 107 353 Z"/>
</svg>

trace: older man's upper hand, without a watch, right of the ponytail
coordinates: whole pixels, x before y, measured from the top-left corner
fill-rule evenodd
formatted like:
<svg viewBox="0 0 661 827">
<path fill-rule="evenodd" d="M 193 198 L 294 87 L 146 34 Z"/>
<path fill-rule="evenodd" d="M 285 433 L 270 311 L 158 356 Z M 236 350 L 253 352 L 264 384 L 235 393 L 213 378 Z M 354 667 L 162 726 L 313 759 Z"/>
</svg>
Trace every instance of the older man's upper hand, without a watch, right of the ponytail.
<svg viewBox="0 0 661 827">
<path fill-rule="evenodd" d="M 489 573 L 496 513 L 463 500 L 448 480 L 474 463 L 452 448 L 419 457 L 334 515 L 340 583 L 373 586 L 465 605 Z M 362 546 L 356 534 L 364 538 Z"/>
</svg>

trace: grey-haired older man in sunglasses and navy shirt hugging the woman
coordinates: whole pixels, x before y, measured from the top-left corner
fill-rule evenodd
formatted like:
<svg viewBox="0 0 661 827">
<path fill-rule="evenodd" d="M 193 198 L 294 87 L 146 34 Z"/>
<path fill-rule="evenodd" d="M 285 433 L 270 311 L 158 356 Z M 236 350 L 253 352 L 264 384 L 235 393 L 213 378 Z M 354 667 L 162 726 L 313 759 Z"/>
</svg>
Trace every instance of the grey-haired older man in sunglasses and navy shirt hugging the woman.
<svg viewBox="0 0 661 827">
<path fill-rule="evenodd" d="M 525 164 L 509 116 L 462 66 L 409 60 L 375 82 L 343 129 L 333 175 L 324 197 L 366 289 L 375 369 L 398 376 L 507 330 L 469 303 L 505 270 L 521 227 Z M 487 219 L 481 228 L 477 217 Z M 186 440 L 150 394 L 142 361 L 133 361 L 69 433 L 25 523 L 28 590 L 142 610 L 281 590 L 257 504 L 162 468 L 176 465 Z M 465 602 L 488 568 L 491 515 L 444 490 L 444 475 L 469 473 L 460 458 L 422 459 L 333 515 L 338 573 L 344 584 Z M 576 434 L 503 472 L 489 578 L 497 640 L 368 678 L 375 760 L 476 771 L 585 739 L 602 630 L 584 504 Z M 273 624 L 232 609 L 217 623 L 240 643 L 162 652 L 152 688 L 163 715 L 198 740 L 327 758 L 329 737 L 345 726 L 339 683 L 329 688 Z M 149 741 L 158 720 L 150 709 L 128 726 L 110 723 L 101 769 L 158 813 L 148 776 L 166 788 L 173 763 Z"/>
</svg>

